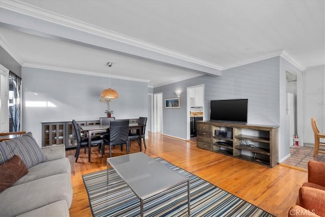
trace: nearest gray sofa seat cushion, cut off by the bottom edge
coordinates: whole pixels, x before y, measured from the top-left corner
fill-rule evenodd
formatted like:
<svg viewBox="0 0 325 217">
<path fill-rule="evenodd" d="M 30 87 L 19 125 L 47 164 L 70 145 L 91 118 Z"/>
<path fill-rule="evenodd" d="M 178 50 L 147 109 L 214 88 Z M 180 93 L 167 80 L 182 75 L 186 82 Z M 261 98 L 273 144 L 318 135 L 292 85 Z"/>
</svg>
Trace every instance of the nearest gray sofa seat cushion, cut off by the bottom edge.
<svg viewBox="0 0 325 217">
<path fill-rule="evenodd" d="M 67 202 L 60 200 L 54 203 L 50 203 L 41 208 L 25 212 L 23 214 L 17 215 L 16 217 L 67 217 L 69 216 L 69 208 Z"/>
</svg>

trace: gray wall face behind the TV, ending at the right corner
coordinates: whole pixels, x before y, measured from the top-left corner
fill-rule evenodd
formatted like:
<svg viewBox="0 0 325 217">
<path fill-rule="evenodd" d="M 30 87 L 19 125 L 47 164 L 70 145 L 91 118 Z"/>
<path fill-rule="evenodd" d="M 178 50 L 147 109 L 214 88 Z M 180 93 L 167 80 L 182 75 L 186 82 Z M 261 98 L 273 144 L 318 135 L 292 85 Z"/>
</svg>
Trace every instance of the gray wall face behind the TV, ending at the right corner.
<svg viewBox="0 0 325 217">
<path fill-rule="evenodd" d="M 181 108 L 163 109 L 164 134 L 186 139 L 186 87 L 204 84 L 204 119 L 210 119 L 210 101 L 248 99 L 248 123 L 279 125 L 279 57 L 222 71 L 221 77 L 200 76 L 154 88 L 172 98 L 181 89 Z"/>
</svg>

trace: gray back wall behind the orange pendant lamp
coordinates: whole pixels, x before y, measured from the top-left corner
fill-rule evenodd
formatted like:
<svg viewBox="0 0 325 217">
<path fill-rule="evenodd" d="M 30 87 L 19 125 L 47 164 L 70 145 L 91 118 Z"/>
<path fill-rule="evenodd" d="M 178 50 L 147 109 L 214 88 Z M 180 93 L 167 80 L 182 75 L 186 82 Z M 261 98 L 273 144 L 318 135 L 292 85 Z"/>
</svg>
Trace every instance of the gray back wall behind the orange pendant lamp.
<svg viewBox="0 0 325 217">
<path fill-rule="evenodd" d="M 41 145 L 41 122 L 99 120 L 107 104 L 100 102 L 108 78 L 22 67 L 22 130 L 31 131 Z M 148 84 L 111 79 L 119 98 L 110 103 L 113 116 L 138 118 L 148 115 Z M 26 107 L 26 101 L 50 102 L 56 107 Z"/>
</svg>

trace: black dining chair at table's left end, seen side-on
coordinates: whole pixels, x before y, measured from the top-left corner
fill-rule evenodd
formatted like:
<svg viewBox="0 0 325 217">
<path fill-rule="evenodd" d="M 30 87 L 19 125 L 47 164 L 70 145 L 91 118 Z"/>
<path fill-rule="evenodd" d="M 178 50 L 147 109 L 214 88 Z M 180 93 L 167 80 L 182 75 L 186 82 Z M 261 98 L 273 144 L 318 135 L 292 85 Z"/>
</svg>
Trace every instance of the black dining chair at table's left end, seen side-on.
<svg viewBox="0 0 325 217">
<path fill-rule="evenodd" d="M 77 163 L 81 147 L 85 148 L 85 153 L 86 153 L 86 148 L 88 147 L 88 137 L 83 137 L 83 138 L 81 137 L 79 126 L 77 125 L 77 122 L 74 119 L 72 120 L 72 126 L 77 137 L 77 148 L 75 153 L 75 158 Z M 91 137 L 91 145 L 98 145 L 98 152 L 100 152 L 101 147 L 104 146 L 104 140 L 101 137 L 97 137 L 97 136 Z M 90 148 L 88 151 L 90 152 Z"/>
</svg>

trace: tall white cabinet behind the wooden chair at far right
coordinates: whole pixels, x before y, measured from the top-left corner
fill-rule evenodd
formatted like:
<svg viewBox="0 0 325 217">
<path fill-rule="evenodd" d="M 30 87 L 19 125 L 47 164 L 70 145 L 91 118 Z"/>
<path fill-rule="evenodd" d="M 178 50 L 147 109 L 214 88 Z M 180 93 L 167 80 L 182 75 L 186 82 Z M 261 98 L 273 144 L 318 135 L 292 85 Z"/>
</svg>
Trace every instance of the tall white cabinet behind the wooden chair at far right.
<svg viewBox="0 0 325 217">
<path fill-rule="evenodd" d="M 311 118 L 315 117 L 320 132 L 325 132 L 325 66 L 304 72 L 304 144 L 314 144 Z"/>
</svg>

